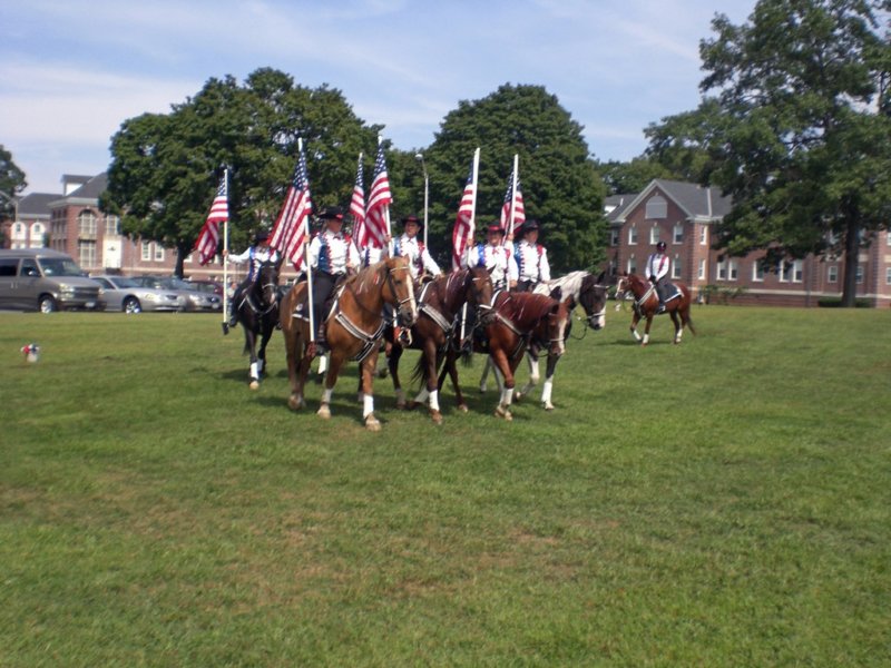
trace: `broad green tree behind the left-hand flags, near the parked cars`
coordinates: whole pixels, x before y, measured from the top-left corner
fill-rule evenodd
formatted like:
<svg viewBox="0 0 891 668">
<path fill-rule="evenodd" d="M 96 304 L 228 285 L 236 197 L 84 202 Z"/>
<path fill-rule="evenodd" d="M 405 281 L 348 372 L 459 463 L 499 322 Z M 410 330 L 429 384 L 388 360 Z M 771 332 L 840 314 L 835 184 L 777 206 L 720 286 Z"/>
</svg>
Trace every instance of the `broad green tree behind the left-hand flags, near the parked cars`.
<svg viewBox="0 0 891 668">
<path fill-rule="evenodd" d="M 380 128 L 365 126 L 343 95 L 310 89 L 263 68 L 244 85 L 209 79 L 169 114 L 126 120 L 111 141 L 102 207 L 124 230 L 176 248 L 177 275 L 192 252 L 225 166 L 229 167 L 231 245 L 268 228 L 278 214 L 302 139 L 316 204 L 345 203 L 360 150 L 370 155 Z"/>
</svg>

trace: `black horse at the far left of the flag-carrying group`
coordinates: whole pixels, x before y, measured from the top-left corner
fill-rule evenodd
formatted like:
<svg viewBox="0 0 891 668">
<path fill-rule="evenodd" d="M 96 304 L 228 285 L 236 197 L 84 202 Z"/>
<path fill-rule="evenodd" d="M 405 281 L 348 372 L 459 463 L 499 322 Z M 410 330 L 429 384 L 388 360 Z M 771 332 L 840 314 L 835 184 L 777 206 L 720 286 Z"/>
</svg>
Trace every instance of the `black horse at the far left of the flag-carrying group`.
<svg viewBox="0 0 891 668">
<path fill-rule="evenodd" d="M 241 293 L 233 304 L 236 320 L 244 330 L 244 352 L 251 354 L 249 387 L 260 387 L 260 379 L 266 370 L 266 345 L 278 322 L 278 269 L 281 262 L 264 262 L 257 278 Z M 260 348 L 257 350 L 257 338 Z"/>
</svg>

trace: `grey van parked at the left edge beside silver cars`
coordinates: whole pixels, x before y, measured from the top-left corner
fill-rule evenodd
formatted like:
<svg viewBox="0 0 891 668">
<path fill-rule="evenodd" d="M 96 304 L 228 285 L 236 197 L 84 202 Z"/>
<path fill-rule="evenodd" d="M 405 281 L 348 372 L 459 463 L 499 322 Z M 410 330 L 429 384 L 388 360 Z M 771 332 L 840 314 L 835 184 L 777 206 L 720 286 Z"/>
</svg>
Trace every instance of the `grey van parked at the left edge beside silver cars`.
<svg viewBox="0 0 891 668">
<path fill-rule="evenodd" d="M 49 248 L 0 250 L 0 308 L 98 311 L 104 308 L 100 287 L 65 253 Z"/>
</svg>

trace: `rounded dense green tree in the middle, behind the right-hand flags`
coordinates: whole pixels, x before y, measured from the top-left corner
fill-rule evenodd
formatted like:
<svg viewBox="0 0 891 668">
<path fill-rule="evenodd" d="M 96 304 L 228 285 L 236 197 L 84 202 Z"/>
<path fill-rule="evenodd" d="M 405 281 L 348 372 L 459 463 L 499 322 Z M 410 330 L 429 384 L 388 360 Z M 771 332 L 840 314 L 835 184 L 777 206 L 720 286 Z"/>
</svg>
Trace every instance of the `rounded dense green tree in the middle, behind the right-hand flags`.
<svg viewBox="0 0 891 668">
<path fill-rule="evenodd" d="M 605 188 L 581 131 L 557 97 L 540 86 L 505 85 L 483 99 L 459 102 L 424 153 L 430 246 L 443 266 L 449 266 L 452 226 L 477 147 L 478 229 L 498 219 L 517 154 L 526 216 L 541 222 L 540 238 L 555 271 L 601 261 Z"/>
</svg>

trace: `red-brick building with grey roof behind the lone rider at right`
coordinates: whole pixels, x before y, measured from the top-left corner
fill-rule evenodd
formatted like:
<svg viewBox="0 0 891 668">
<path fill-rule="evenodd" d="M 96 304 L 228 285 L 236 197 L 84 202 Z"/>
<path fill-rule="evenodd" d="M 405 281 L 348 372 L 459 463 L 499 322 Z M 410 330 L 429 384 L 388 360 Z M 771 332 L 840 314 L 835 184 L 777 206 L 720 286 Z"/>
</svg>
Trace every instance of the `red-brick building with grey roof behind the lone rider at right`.
<svg viewBox="0 0 891 668">
<path fill-rule="evenodd" d="M 658 242 L 672 258 L 672 278 L 694 294 L 732 296 L 735 304 L 816 306 L 821 298 L 841 298 L 844 258 L 809 255 L 765 272 L 765 253 L 727 257 L 712 248 L 715 228 L 731 210 L 718 188 L 655 179 L 638 194 L 606 200 L 610 225 L 608 271 L 642 273 Z M 873 306 L 891 305 L 891 235 L 866 239 L 858 258 L 856 296 Z"/>
</svg>

